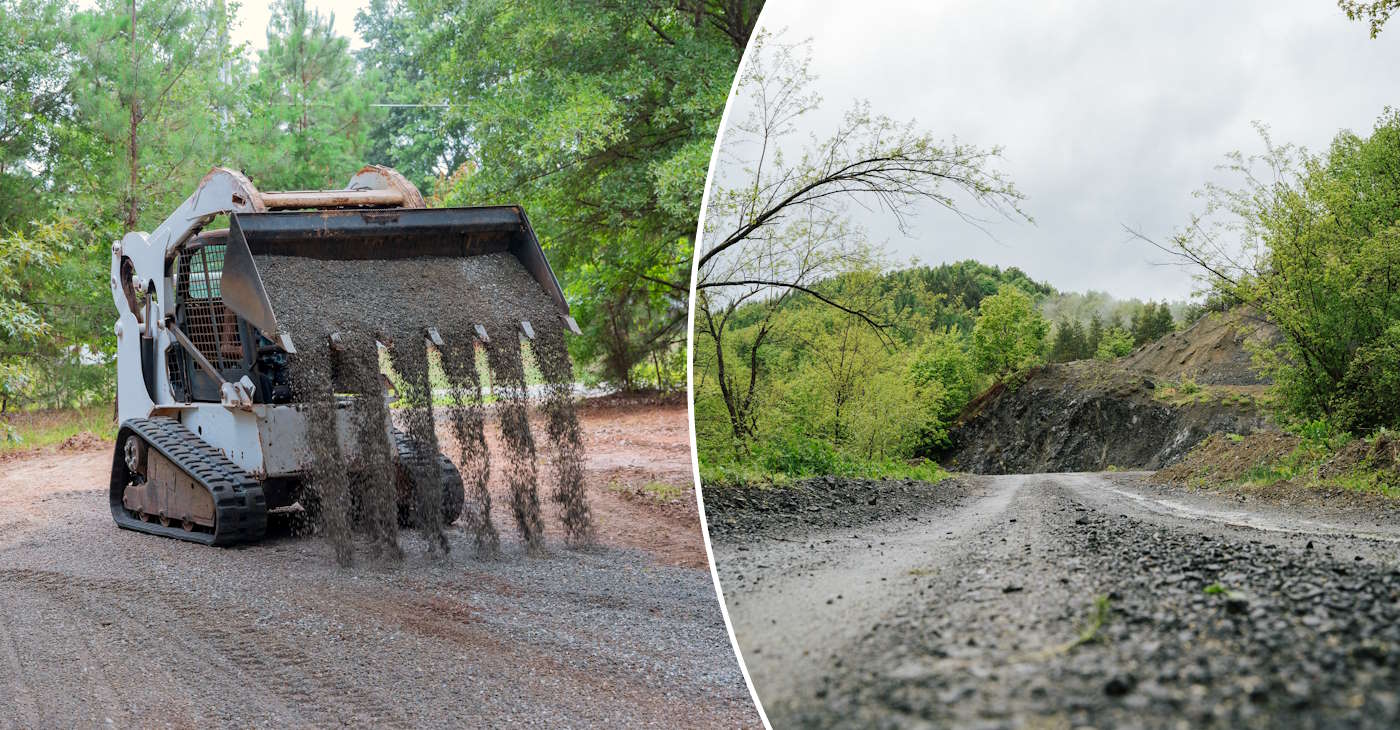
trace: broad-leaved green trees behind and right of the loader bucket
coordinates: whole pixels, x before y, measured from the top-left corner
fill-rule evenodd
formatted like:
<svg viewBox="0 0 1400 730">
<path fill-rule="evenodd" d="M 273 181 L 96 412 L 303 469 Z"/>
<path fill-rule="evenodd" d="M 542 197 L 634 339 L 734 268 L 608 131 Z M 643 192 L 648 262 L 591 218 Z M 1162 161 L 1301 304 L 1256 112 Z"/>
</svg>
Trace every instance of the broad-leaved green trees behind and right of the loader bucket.
<svg viewBox="0 0 1400 730">
<path fill-rule="evenodd" d="M 762 3 L 451 3 L 400 10 L 440 123 L 472 140 L 444 205 L 524 203 L 608 380 L 680 374 L 710 151 Z M 403 76 L 402 73 L 399 74 Z M 421 154 L 420 119 L 398 136 Z M 455 154 L 455 150 L 451 150 Z M 662 363 L 665 360 L 665 363 Z"/>
</svg>

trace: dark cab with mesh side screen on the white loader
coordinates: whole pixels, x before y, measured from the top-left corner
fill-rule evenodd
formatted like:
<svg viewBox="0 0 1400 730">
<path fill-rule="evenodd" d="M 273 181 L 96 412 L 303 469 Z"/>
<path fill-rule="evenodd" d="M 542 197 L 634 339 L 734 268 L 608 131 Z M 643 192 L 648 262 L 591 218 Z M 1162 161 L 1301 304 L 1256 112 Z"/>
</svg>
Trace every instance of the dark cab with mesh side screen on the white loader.
<svg viewBox="0 0 1400 730">
<path fill-rule="evenodd" d="M 230 383 L 244 376 L 256 384 L 253 401 L 291 399 L 287 354 L 224 304 L 223 272 L 228 231 L 200 233 L 189 240 L 171 265 L 175 279 L 175 324 Z M 176 343 L 165 350 L 171 394 L 179 402 L 220 402 L 218 381 L 200 369 Z"/>
</svg>

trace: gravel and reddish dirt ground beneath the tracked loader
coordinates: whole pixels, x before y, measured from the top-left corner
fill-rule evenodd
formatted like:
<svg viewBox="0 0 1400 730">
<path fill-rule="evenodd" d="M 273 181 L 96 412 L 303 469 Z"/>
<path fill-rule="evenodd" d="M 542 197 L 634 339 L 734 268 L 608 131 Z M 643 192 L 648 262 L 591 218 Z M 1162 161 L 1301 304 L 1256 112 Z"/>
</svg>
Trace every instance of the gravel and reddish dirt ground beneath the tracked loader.
<svg viewBox="0 0 1400 730">
<path fill-rule="evenodd" d="M 629 490 L 689 483 L 685 408 L 582 420 L 602 544 L 550 514 L 543 558 L 508 510 L 497 560 L 461 527 L 447 560 L 405 534 L 350 569 L 321 538 L 203 548 L 112 524 L 108 444 L 0 462 L 0 729 L 757 726 L 693 493 Z"/>
</svg>

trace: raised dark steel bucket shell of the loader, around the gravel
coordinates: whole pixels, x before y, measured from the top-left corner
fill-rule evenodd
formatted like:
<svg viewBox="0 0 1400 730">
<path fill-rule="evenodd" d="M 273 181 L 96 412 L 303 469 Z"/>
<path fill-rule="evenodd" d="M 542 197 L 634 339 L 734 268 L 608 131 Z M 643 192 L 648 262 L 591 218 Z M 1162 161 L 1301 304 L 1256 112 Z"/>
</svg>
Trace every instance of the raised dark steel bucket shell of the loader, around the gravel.
<svg viewBox="0 0 1400 730">
<path fill-rule="evenodd" d="M 525 212 L 517 206 L 232 213 L 223 298 L 277 342 L 281 331 L 253 256 L 364 261 L 511 254 L 568 317 L 568 303 Z"/>
</svg>

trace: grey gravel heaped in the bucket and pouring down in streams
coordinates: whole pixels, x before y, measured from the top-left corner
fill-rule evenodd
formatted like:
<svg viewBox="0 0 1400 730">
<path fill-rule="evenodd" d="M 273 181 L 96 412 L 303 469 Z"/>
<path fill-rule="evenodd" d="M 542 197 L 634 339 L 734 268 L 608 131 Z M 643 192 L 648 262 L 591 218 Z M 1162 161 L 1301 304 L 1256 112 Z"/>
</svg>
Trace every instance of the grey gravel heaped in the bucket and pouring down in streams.
<svg viewBox="0 0 1400 730">
<path fill-rule="evenodd" d="M 468 490 L 463 523 L 483 553 L 498 549 L 486 489 L 486 398 L 479 352 L 484 352 L 496 399 L 504 468 L 515 525 L 532 551 L 543 546 L 539 500 L 539 450 L 531 433 L 525 363 L 533 357 L 547 384 L 550 496 L 560 506 L 567 539 L 592 538 L 582 483 L 582 439 L 573 399 L 573 364 L 564 325 L 553 301 L 508 254 L 472 258 L 323 261 L 256 256 L 279 326 L 290 332 L 293 399 L 308 415 L 311 464 L 307 469 L 315 525 L 335 545 L 340 563 L 353 559 L 358 527 L 379 552 L 400 555 L 398 525 L 412 521 L 431 552 L 447 552 L 442 446 L 434 429 L 430 363 L 441 363 L 449 385 L 448 420 L 456 464 Z M 526 325 L 529 322 L 528 332 Z M 484 333 L 484 336 L 483 336 Z M 529 352 L 522 349 L 522 333 Z M 532 335 L 532 338 L 529 338 Z M 385 404 L 379 349 L 398 377 L 398 408 Z M 347 398 L 349 397 L 349 398 Z M 342 451 L 336 412 L 351 409 L 354 448 Z M 402 430 L 406 448 L 395 448 L 389 425 Z M 398 455 L 396 455 L 398 454 Z M 406 471 L 412 495 L 399 495 L 398 471 Z M 403 520 L 403 516 L 412 520 Z"/>
</svg>

